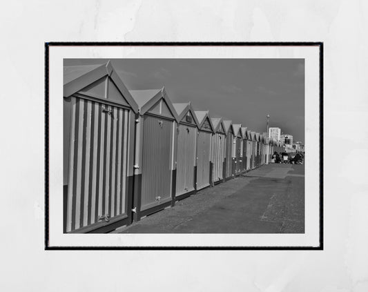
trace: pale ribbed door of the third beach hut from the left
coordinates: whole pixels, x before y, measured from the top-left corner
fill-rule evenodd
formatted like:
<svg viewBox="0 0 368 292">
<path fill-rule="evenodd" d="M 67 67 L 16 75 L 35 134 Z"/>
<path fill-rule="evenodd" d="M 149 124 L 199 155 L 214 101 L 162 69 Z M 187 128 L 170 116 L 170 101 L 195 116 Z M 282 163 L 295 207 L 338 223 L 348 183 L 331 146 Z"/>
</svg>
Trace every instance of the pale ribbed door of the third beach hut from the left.
<svg viewBox="0 0 368 292">
<path fill-rule="evenodd" d="M 176 195 L 194 190 L 195 127 L 179 125 L 177 129 Z"/>
</svg>

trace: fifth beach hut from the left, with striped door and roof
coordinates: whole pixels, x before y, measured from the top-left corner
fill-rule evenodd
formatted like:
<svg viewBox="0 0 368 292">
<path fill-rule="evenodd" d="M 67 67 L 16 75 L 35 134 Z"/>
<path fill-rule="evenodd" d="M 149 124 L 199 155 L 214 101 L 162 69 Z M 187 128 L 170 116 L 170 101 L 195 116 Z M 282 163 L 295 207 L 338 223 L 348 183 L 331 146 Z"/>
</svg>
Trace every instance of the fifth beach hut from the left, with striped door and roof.
<svg viewBox="0 0 368 292">
<path fill-rule="evenodd" d="M 218 184 L 224 179 L 226 155 L 226 130 L 222 118 L 211 118 L 215 133 L 212 136 L 211 162 L 212 182 Z"/>
</svg>

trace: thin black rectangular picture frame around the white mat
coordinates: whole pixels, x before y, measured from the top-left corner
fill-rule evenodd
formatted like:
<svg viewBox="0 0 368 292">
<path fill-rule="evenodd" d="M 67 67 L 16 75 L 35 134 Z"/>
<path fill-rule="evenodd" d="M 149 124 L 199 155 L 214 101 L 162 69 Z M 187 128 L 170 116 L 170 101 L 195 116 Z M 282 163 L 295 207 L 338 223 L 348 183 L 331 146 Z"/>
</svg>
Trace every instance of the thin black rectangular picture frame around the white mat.
<svg viewBox="0 0 368 292">
<path fill-rule="evenodd" d="M 320 68 L 320 104 L 319 104 L 319 135 L 320 135 L 320 228 L 319 246 L 50 246 L 49 245 L 49 51 L 52 46 L 318 46 Z M 57 42 L 45 43 L 45 237 L 46 251 L 67 250 L 288 250 L 288 251 L 322 251 L 323 237 L 323 42 Z"/>
</svg>

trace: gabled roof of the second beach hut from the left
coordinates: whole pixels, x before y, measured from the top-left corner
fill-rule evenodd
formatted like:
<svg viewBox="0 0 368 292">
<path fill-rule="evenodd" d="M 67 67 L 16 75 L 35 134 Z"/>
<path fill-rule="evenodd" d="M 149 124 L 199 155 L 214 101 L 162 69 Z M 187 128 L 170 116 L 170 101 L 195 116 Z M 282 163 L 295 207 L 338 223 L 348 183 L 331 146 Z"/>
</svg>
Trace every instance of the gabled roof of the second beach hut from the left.
<svg viewBox="0 0 368 292">
<path fill-rule="evenodd" d="M 139 115 L 144 115 L 157 103 L 157 101 L 159 101 L 159 99 L 163 99 L 175 120 L 178 120 L 176 110 L 171 100 L 168 98 L 164 87 L 161 89 L 129 90 L 129 93 L 138 105 Z"/>
</svg>

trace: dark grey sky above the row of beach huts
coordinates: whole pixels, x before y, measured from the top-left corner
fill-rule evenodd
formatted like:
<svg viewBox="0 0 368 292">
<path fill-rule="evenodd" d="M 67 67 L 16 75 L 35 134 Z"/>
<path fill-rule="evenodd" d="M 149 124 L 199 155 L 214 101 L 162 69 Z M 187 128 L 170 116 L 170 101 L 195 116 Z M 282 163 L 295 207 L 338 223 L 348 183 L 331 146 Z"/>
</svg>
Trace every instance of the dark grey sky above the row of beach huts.
<svg viewBox="0 0 368 292">
<path fill-rule="evenodd" d="M 107 59 L 65 59 L 64 66 Z M 111 59 L 129 90 L 166 89 L 173 103 L 231 119 L 258 133 L 269 126 L 304 142 L 304 59 Z"/>
</svg>

